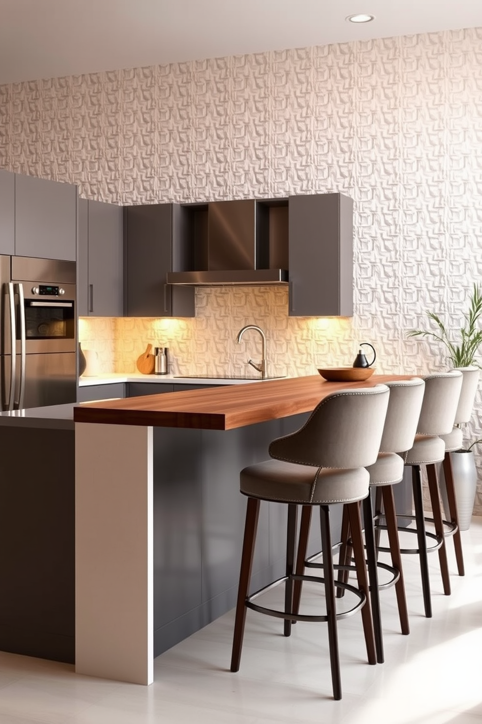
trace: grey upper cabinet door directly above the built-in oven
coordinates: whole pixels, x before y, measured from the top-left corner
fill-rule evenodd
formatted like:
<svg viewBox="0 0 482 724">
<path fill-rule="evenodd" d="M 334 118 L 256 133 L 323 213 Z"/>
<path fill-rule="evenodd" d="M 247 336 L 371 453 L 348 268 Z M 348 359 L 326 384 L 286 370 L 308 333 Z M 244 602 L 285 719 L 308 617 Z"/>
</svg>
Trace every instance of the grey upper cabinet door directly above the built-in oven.
<svg viewBox="0 0 482 724">
<path fill-rule="evenodd" d="M 15 174 L 15 254 L 76 261 L 77 186 Z"/>
</svg>

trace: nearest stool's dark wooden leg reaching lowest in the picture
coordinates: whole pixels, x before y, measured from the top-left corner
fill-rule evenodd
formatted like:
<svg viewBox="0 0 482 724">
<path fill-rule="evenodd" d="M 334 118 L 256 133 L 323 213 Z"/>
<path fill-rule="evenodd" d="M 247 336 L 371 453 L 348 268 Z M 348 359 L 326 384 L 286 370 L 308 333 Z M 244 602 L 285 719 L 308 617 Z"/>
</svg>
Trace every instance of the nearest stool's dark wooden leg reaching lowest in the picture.
<svg viewBox="0 0 482 724">
<path fill-rule="evenodd" d="M 332 558 L 332 534 L 330 506 L 320 505 L 319 517 L 322 529 L 324 594 L 327 605 L 328 643 L 330 646 L 330 665 L 332 670 L 333 698 L 341 699 L 340 657 L 338 654 L 338 633 L 335 604 L 335 573 Z M 364 562 L 363 557 L 363 562 Z M 361 609 L 362 613 L 365 606 Z M 372 631 L 373 633 L 373 631 Z"/>
</svg>

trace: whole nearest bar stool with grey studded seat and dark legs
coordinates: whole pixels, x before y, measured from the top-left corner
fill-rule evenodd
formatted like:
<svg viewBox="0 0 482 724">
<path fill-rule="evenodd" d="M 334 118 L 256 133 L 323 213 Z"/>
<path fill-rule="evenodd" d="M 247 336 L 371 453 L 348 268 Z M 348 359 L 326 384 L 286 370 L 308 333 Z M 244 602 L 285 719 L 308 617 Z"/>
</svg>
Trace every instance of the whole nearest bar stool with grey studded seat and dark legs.
<svg viewBox="0 0 482 724">
<path fill-rule="evenodd" d="M 285 636 L 290 635 L 293 620 L 327 622 L 335 699 L 341 699 L 337 618 L 343 618 L 361 608 L 368 660 L 371 664 L 376 663 L 358 501 L 369 493 L 369 473 L 365 468 L 374 463 L 379 451 L 389 394 L 385 385 L 376 385 L 358 390 L 341 390 L 327 395 L 301 429 L 271 443 L 269 454 L 274 459 L 249 466 L 241 471 L 241 493 L 248 497 L 248 501 L 231 671 L 239 669 L 247 608 L 283 618 Z M 285 576 L 249 595 L 254 542 L 262 500 L 288 505 L 286 570 Z M 335 609 L 329 507 L 332 503 L 345 503 L 348 508 L 358 576 L 358 589 L 343 584 L 350 592 L 356 594 L 358 602 L 350 611 L 342 614 L 337 614 Z M 294 573 L 298 505 L 304 505 L 310 511 L 314 505 L 319 506 L 323 550 L 329 552 L 329 555 L 324 556 L 323 578 L 297 576 Z M 293 581 L 297 578 L 324 584 L 326 615 L 293 613 Z M 270 609 L 254 602 L 267 588 L 283 581 L 285 583 L 283 610 Z"/>
</svg>

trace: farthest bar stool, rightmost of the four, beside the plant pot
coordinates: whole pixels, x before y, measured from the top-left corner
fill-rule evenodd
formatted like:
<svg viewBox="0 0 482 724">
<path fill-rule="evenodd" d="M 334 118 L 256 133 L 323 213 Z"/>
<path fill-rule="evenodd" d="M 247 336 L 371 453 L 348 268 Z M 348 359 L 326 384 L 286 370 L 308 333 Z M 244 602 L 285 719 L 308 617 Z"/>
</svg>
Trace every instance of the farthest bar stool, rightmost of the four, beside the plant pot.
<svg viewBox="0 0 482 724">
<path fill-rule="evenodd" d="M 464 559 L 462 553 L 462 539 L 460 538 L 459 518 L 457 513 L 457 500 L 455 499 L 454 476 L 452 473 L 452 459 L 450 453 L 460 450 L 463 444 L 463 435 L 460 425 L 468 422 L 472 416 L 473 403 L 478 387 L 478 378 L 480 370 L 477 367 L 457 367 L 462 372 L 462 390 L 460 391 L 457 412 L 455 413 L 455 426 L 452 432 L 447 435 L 441 435 L 445 443 L 444 456 L 444 478 L 445 489 L 447 491 L 447 502 L 449 504 L 450 520 L 447 523 L 445 535 L 453 535 L 455 558 L 457 560 L 457 571 L 459 576 L 465 576 Z"/>
</svg>

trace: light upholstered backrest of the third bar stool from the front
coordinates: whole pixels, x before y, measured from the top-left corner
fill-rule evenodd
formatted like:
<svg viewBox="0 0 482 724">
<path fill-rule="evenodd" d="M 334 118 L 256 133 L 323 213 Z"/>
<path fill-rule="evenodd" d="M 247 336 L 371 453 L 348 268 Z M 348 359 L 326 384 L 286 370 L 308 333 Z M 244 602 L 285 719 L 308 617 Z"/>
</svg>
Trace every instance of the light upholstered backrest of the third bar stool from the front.
<svg viewBox="0 0 482 724">
<path fill-rule="evenodd" d="M 452 370 L 424 377 L 425 393 L 418 419 L 421 435 L 446 435 L 452 432 L 462 389 L 462 372 Z"/>
</svg>

